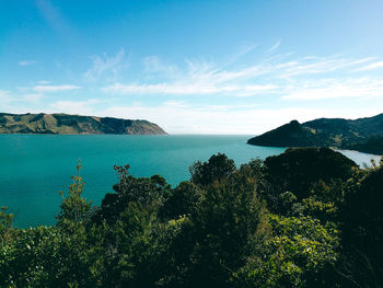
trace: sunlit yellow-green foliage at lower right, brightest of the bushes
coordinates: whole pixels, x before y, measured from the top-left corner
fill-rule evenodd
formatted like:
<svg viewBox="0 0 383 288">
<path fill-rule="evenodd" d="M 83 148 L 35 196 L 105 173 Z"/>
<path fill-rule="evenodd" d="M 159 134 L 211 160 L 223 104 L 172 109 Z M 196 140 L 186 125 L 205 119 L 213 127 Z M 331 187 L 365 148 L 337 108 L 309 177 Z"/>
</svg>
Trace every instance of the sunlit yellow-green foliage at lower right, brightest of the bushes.
<svg viewBox="0 0 383 288">
<path fill-rule="evenodd" d="M 337 231 L 320 221 L 270 215 L 268 255 L 236 274 L 237 287 L 324 287 L 321 273 L 337 260 Z"/>
</svg>

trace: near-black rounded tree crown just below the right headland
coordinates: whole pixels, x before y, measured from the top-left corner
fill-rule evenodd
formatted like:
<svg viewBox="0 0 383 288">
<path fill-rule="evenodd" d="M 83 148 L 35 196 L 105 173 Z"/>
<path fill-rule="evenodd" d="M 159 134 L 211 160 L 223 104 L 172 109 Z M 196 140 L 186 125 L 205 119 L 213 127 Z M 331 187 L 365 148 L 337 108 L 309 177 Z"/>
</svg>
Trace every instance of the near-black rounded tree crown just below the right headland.
<svg viewBox="0 0 383 288">
<path fill-rule="evenodd" d="M 288 149 L 280 155 L 267 158 L 264 166 L 266 182 L 262 193 L 275 212 L 286 210 L 280 194 L 291 192 L 301 201 L 312 196 L 312 189 L 318 185 L 348 180 L 357 168 L 353 161 L 327 148 Z M 329 201 L 324 198 L 328 194 L 333 193 L 316 194 L 316 197 Z"/>
</svg>

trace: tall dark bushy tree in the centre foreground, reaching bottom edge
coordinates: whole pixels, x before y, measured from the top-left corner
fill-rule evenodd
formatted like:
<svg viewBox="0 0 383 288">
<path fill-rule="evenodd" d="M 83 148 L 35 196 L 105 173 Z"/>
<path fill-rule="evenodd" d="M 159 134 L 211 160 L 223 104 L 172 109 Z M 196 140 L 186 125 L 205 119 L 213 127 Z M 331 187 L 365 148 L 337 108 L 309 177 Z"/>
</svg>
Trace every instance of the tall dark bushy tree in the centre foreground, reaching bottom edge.
<svg viewBox="0 0 383 288">
<path fill-rule="evenodd" d="M 247 258 L 262 254 L 268 226 L 252 178 L 235 173 L 210 185 L 189 219 L 189 287 L 230 287 Z"/>
</svg>

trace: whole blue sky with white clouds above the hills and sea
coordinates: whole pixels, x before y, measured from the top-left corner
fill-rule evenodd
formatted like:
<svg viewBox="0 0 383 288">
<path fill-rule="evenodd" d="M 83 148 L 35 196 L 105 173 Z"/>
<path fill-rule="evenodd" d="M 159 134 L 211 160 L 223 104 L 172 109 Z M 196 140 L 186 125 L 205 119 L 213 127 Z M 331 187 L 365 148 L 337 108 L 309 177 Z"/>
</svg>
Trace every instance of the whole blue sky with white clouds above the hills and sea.
<svg viewBox="0 0 383 288">
<path fill-rule="evenodd" d="M 0 112 L 257 135 L 383 113 L 381 0 L 2 0 Z"/>
</svg>

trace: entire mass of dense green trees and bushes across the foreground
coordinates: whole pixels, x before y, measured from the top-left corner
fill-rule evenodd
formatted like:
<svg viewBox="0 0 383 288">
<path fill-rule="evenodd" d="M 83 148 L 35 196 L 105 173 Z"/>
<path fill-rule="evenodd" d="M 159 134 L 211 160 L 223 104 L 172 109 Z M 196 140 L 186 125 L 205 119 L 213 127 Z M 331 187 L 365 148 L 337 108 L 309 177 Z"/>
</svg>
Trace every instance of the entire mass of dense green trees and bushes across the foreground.
<svg viewBox="0 0 383 288">
<path fill-rule="evenodd" d="M 1 287 L 383 286 L 381 165 L 325 148 L 239 169 L 217 154 L 174 188 L 115 170 L 100 207 L 73 176 L 55 227 L 12 228 L 2 208 Z"/>
</svg>

